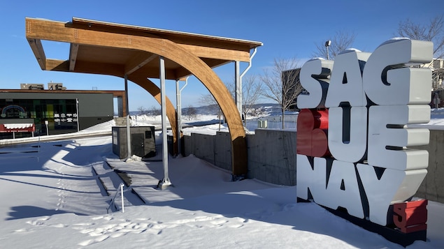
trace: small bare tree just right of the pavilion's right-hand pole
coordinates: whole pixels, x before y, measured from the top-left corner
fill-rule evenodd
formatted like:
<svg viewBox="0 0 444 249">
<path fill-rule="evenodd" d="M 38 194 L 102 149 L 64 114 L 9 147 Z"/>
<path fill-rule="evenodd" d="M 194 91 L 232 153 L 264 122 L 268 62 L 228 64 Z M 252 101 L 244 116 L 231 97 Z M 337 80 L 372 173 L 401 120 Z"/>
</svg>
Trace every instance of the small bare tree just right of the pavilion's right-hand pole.
<svg viewBox="0 0 444 249">
<path fill-rule="evenodd" d="M 257 100 L 262 96 L 262 84 L 257 82 L 256 75 L 249 75 L 242 81 L 242 114 L 243 125 L 247 126 L 247 114 L 249 114 Z"/>
</svg>

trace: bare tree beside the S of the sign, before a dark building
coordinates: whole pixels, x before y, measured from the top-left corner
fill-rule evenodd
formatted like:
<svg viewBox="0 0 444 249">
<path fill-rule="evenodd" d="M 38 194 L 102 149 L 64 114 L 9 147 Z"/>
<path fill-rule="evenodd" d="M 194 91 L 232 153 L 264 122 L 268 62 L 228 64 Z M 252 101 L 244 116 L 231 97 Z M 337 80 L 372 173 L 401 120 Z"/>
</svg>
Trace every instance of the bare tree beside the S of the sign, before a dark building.
<svg viewBox="0 0 444 249">
<path fill-rule="evenodd" d="M 274 100 L 282 110 L 282 129 L 285 128 L 285 111 L 296 104 L 296 98 L 303 91 L 299 82 L 300 63 L 293 59 L 274 59 L 273 67 L 264 70 L 260 76 L 264 84 L 262 96 Z"/>
</svg>

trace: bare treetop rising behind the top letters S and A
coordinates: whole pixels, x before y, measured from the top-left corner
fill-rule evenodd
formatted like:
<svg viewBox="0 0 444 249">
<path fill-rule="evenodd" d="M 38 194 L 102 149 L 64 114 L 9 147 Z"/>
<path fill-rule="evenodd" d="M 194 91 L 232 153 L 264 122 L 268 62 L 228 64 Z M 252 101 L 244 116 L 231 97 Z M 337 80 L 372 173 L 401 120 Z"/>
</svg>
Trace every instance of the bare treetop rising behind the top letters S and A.
<svg viewBox="0 0 444 249">
<path fill-rule="evenodd" d="M 336 55 L 350 48 L 355 42 L 356 34 L 348 33 L 347 31 L 336 31 L 334 36 L 322 40 L 319 44 L 316 44 L 313 57 L 322 57 L 328 59 L 334 59 Z M 327 44 L 326 41 L 331 40 L 331 44 L 328 46 L 327 56 Z"/>
</svg>

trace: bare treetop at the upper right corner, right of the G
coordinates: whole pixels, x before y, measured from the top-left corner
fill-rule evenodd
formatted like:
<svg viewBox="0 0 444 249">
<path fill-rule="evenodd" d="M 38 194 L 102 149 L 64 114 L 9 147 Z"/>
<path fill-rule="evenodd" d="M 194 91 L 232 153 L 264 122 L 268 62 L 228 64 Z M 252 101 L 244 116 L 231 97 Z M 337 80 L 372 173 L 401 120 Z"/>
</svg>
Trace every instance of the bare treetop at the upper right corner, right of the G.
<svg viewBox="0 0 444 249">
<path fill-rule="evenodd" d="M 435 17 L 429 24 L 415 24 L 410 20 L 399 22 L 396 35 L 413 40 L 428 40 L 434 43 L 435 58 L 444 56 L 444 20 L 443 16 Z"/>
</svg>

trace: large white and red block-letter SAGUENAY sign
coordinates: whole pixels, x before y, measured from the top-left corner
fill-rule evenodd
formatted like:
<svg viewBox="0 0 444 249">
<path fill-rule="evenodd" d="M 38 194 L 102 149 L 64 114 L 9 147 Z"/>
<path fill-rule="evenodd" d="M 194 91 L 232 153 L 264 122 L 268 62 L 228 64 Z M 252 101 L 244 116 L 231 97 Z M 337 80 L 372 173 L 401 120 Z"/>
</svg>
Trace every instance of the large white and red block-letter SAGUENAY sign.
<svg viewBox="0 0 444 249">
<path fill-rule="evenodd" d="M 297 100 L 303 109 L 297 124 L 299 199 L 378 225 L 394 223 L 403 232 L 427 227 L 427 200 L 408 201 L 427 174 L 429 153 L 408 146 L 428 144 L 429 130 L 406 125 L 429 122 L 431 70 L 415 65 L 432 56 L 433 43 L 396 38 L 373 53 L 345 50 L 335 61 L 303 65 L 300 81 L 308 94 Z"/>
</svg>

